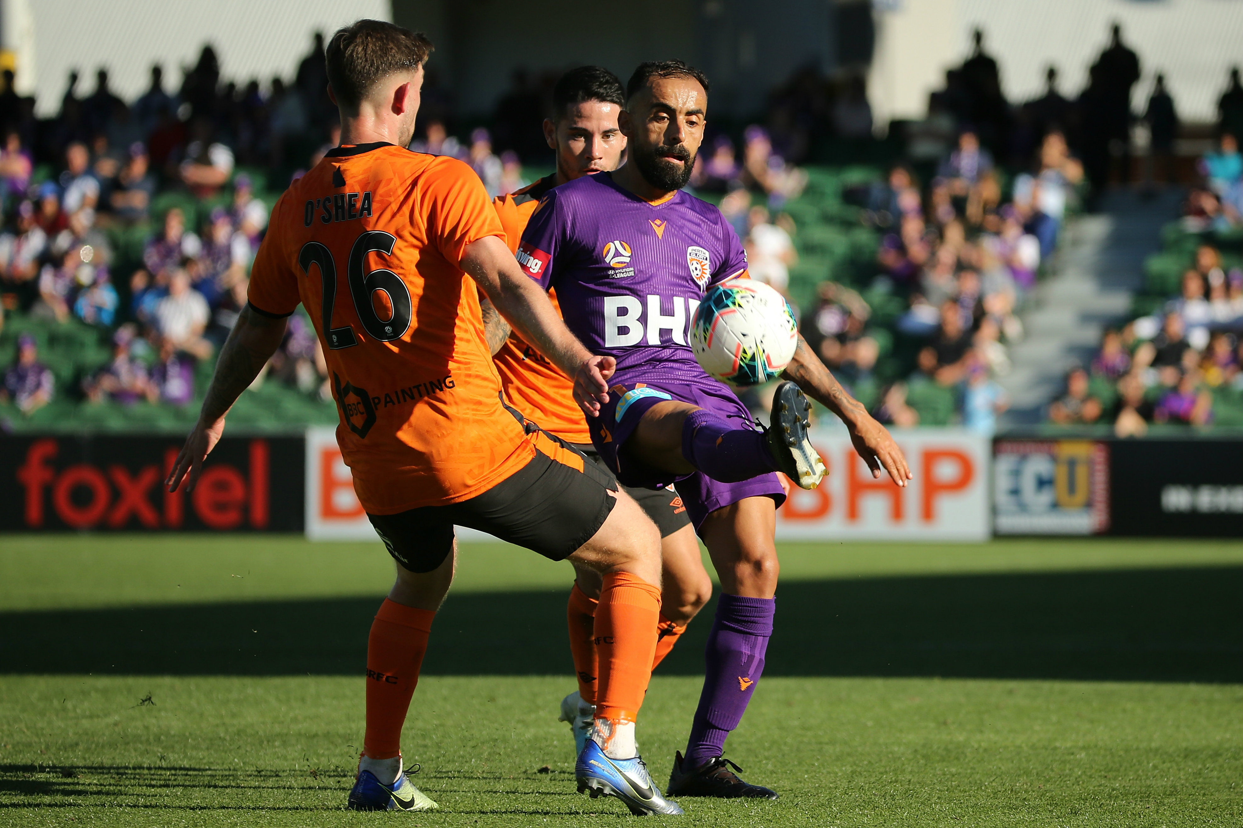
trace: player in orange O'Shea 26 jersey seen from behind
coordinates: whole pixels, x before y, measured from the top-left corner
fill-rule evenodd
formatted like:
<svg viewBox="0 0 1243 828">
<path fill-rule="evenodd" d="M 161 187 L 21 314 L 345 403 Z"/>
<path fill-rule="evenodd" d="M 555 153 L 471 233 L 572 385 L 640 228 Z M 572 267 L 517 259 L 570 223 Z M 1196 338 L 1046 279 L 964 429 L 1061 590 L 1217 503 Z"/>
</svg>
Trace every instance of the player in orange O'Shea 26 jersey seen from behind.
<svg viewBox="0 0 1243 828">
<path fill-rule="evenodd" d="M 634 740 L 656 649 L 659 533 L 612 475 L 503 400 L 479 288 L 574 377 L 584 404 L 603 384 L 602 361 L 522 275 L 470 167 L 405 149 L 430 51 L 423 35 L 374 20 L 329 41 L 342 144 L 273 208 L 249 303 L 168 485 L 194 486 L 225 414 L 301 302 L 327 357 L 354 491 L 398 564 L 368 640 L 367 731 L 348 806 L 436 807 L 403 773 L 399 741 L 452 581 L 457 523 L 600 573 L 597 719 L 579 791 L 618 796 L 634 813 L 681 813 Z"/>
</svg>

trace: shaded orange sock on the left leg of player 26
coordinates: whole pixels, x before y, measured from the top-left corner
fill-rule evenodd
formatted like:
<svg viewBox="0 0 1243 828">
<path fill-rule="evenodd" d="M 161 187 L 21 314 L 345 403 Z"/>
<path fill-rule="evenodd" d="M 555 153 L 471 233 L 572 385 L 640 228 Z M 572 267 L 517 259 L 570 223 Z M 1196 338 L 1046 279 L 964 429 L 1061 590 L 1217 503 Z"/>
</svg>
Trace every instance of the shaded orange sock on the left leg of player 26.
<svg viewBox="0 0 1243 828">
<path fill-rule="evenodd" d="M 393 758 L 401 755 L 401 725 L 419 684 L 419 668 L 428 651 L 430 609 L 415 609 L 384 599 L 367 639 L 367 735 L 363 755 Z"/>
</svg>

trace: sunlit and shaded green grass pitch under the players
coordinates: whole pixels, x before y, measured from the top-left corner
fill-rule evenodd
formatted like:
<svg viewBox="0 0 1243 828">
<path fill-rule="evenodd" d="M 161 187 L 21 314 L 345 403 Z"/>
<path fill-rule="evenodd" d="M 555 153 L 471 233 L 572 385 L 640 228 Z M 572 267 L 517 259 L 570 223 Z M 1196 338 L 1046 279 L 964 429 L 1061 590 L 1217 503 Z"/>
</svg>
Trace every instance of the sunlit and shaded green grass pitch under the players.
<svg viewBox="0 0 1243 828">
<path fill-rule="evenodd" d="M 1243 824 L 1243 542 L 786 545 L 727 756 L 778 802 L 695 826 Z M 378 543 L 0 537 L 0 826 L 587 826 L 568 564 L 462 550 L 405 729 L 435 814 L 342 811 Z M 639 736 L 667 778 L 705 617 Z M 544 772 L 541 772 L 541 768 Z"/>
</svg>

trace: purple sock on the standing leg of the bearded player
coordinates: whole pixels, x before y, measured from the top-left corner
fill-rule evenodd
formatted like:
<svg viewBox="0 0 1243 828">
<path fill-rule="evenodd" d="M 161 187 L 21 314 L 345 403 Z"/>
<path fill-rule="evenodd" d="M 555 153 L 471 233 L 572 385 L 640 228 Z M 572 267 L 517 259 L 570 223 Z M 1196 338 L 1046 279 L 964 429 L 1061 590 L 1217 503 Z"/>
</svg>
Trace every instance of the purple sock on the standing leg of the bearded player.
<svg viewBox="0 0 1243 828">
<path fill-rule="evenodd" d="M 702 765 L 725 750 L 725 737 L 742 721 L 751 694 L 764 671 L 773 634 L 776 598 L 722 594 L 707 637 L 704 692 L 686 742 L 685 767 Z"/>
</svg>

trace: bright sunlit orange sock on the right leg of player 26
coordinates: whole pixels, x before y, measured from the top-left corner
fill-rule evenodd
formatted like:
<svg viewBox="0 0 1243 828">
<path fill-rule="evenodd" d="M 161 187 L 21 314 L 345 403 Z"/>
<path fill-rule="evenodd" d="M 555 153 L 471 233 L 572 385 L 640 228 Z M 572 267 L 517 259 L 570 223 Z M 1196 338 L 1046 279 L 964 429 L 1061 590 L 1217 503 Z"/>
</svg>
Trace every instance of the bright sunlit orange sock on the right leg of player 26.
<svg viewBox="0 0 1243 828">
<path fill-rule="evenodd" d="M 633 722 L 639 715 L 651 680 L 659 618 L 660 587 L 629 572 L 604 576 L 595 608 L 597 719 Z"/>
</svg>

